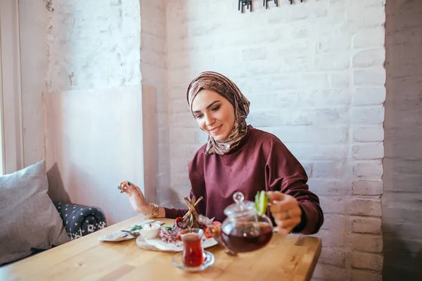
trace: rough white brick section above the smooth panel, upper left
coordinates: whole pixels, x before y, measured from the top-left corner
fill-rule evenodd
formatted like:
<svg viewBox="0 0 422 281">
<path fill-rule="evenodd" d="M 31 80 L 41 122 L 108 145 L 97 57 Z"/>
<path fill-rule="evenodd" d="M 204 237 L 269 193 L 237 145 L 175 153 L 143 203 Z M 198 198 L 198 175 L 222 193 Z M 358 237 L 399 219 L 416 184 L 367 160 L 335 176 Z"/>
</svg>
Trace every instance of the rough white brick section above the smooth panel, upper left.
<svg viewBox="0 0 422 281">
<path fill-rule="evenodd" d="M 139 85 L 139 1 L 55 0 L 47 27 L 49 92 Z"/>
</svg>

